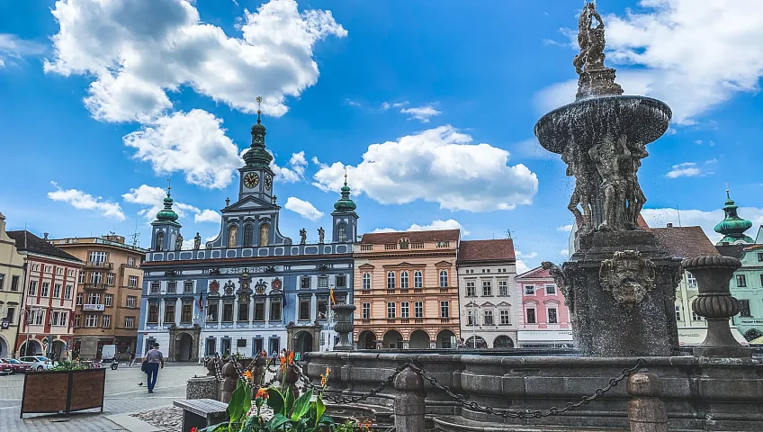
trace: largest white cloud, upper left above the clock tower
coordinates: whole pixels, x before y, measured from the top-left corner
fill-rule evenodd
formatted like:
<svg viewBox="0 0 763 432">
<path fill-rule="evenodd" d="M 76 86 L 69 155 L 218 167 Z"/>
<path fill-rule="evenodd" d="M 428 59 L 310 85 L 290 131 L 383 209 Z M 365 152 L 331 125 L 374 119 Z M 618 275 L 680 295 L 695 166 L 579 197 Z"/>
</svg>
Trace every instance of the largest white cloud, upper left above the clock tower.
<svg viewBox="0 0 763 432">
<path fill-rule="evenodd" d="M 103 121 L 145 121 L 170 109 L 187 86 L 216 102 L 283 115 L 286 96 L 318 81 L 313 48 L 347 32 L 331 12 L 272 0 L 244 11 L 240 38 L 203 23 L 190 0 L 58 0 L 59 31 L 45 70 L 93 76 L 85 105 Z M 256 76 L 256 79 L 252 77 Z"/>
</svg>

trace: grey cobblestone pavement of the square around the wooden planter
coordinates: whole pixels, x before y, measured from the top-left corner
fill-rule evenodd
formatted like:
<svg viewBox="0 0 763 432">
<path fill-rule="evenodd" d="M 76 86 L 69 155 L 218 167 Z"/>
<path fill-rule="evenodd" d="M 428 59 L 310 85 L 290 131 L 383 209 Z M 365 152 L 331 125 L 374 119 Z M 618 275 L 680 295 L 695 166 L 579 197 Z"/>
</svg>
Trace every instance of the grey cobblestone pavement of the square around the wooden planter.
<svg viewBox="0 0 763 432">
<path fill-rule="evenodd" d="M 103 413 L 87 410 L 72 413 L 68 419 L 63 415 L 49 414 L 26 414 L 24 419 L 19 419 L 23 375 L 0 376 L 0 431 L 123 431 L 125 429 L 106 417 L 171 406 L 173 401 L 185 399 L 185 383 L 188 378 L 206 374 L 207 369 L 201 365 L 166 365 L 159 371 L 154 393 L 148 394 L 146 374 L 140 372 L 139 365 L 120 365 L 116 371 L 106 370 Z M 139 386 L 138 383 L 143 385 Z"/>
</svg>

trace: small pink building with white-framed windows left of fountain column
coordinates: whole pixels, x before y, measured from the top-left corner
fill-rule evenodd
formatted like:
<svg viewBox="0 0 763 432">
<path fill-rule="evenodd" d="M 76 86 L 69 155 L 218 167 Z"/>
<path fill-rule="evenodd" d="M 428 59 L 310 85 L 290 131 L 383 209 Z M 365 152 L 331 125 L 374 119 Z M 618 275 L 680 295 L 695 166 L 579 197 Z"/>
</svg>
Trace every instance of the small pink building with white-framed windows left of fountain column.
<svg viewBox="0 0 763 432">
<path fill-rule="evenodd" d="M 519 347 L 572 347 L 570 310 L 548 270 L 537 267 L 516 276 L 522 293 L 516 339 Z"/>
</svg>

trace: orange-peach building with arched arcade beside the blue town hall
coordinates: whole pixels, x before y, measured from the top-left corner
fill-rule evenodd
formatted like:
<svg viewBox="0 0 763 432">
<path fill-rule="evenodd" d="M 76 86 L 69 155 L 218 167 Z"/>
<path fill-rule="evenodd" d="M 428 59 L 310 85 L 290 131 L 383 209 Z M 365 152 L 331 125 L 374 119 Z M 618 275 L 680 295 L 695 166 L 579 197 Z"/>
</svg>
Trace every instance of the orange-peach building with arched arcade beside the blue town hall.
<svg viewBox="0 0 763 432">
<path fill-rule="evenodd" d="M 358 348 L 455 347 L 459 233 L 381 232 L 355 245 Z"/>
</svg>

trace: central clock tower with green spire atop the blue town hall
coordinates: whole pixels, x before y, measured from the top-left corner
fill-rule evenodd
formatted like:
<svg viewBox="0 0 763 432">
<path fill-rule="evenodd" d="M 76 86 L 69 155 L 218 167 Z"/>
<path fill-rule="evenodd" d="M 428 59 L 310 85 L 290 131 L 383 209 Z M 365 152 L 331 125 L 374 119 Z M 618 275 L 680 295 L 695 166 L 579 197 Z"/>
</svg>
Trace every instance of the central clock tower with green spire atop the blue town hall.
<svg viewBox="0 0 763 432">
<path fill-rule="evenodd" d="M 262 97 L 257 96 L 257 103 L 262 103 Z M 270 162 L 273 156 L 265 150 L 265 126 L 260 118 L 262 111 L 257 109 L 257 122 L 252 126 L 252 145 L 244 153 L 245 166 L 238 168 L 238 200 L 252 196 L 265 203 L 274 203 L 273 171 Z"/>
</svg>

